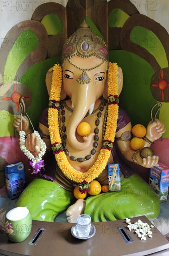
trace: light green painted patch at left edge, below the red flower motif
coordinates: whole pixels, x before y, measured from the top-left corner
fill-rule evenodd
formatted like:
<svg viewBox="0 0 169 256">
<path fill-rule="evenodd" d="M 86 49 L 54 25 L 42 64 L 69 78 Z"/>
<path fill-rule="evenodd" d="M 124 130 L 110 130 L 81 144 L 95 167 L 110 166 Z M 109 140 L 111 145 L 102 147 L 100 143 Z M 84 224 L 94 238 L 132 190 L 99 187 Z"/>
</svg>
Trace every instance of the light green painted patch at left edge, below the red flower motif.
<svg viewBox="0 0 169 256">
<path fill-rule="evenodd" d="M 14 136 L 13 122 L 16 116 L 6 110 L 0 111 L 0 137 Z"/>
</svg>

